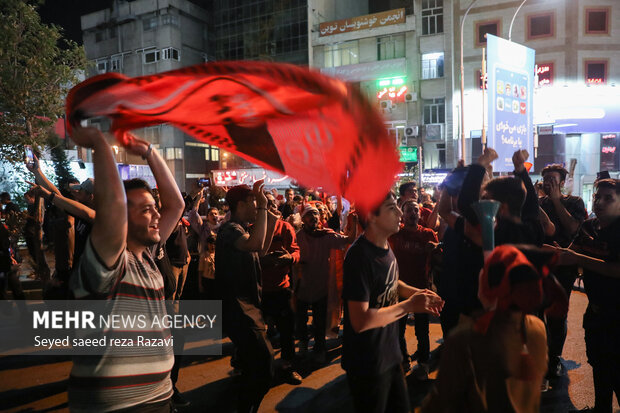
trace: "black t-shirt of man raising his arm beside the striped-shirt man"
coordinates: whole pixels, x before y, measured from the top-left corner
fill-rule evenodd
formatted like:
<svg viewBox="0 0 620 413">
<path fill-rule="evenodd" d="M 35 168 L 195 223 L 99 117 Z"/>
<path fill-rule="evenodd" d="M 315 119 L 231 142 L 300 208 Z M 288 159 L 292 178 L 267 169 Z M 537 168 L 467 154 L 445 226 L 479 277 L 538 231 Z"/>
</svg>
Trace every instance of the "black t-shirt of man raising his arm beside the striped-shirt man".
<svg viewBox="0 0 620 413">
<path fill-rule="evenodd" d="M 223 327 L 264 328 L 261 314 L 261 267 L 257 252 L 235 242 L 247 231 L 237 222 L 222 224 L 215 242 L 215 282 L 222 298 Z"/>
</svg>

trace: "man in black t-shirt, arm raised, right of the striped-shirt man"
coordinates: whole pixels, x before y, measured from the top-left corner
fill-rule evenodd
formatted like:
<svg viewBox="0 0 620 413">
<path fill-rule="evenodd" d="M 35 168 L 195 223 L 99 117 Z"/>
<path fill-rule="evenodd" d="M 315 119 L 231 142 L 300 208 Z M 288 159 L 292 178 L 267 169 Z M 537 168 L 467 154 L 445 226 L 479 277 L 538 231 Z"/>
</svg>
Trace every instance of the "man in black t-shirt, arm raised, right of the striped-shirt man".
<svg viewBox="0 0 620 413">
<path fill-rule="evenodd" d="M 215 242 L 223 330 L 236 346 L 242 371 L 239 412 L 257 411 L 273 378 L 273 349 L 261 311 L 259 255 L 265 255 L 271 245 L 277 216 L 267 211 L 263 186 L 260 180 L 253 188 L 238 185 L 228 191 L 231 219 L 222 224 Z"/>
</svg>

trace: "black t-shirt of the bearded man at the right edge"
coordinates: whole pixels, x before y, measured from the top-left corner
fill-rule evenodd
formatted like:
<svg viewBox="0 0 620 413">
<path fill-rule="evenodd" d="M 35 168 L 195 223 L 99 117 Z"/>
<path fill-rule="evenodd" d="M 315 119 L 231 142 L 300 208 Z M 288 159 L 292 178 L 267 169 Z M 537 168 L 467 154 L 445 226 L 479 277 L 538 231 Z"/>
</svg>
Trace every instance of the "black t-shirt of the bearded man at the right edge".
<svg viewBox="0 0 620 413">
<path fill-rule="evenodd" d="M 605 228 L 598 219 L 583 223 L 575 246 L 579 252 L 605 262 L 620 261 L 620 218 Z M 583 285 L 590 304 L 596 305 L 608 315 L 620 318 L 620 279 L 598 274 L 584 268 Z"/>
</svg>

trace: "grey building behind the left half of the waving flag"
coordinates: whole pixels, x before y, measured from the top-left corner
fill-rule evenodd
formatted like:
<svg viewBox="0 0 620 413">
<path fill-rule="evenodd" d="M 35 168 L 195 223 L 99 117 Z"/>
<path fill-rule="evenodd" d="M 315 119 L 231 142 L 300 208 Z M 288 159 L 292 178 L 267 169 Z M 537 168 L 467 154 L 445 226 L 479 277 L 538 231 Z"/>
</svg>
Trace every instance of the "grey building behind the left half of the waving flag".
<svg viewBox="0 0 620 413">
<path fill-rule="evenodd" d="M 210 13 L 187 0 L 115 1 L 110 9 L 82 16 L 86 57 L 94 63 L 91 75 L 119 72 L 142 76 L 213 60 Z M 106 119 L 92 122 L 109 129 Z M 197 142 L 170 125 L 134 131 L 148 140 L 166 160 L 182 191 L 219 167 L 220 151 Z M 114 147 L 125 177 L 142 176 L 144 161 Z M 88 160 L 83 151 L 82 159 Z M 148 169 L 148 168 L 147 168 Z"/>
</svg>

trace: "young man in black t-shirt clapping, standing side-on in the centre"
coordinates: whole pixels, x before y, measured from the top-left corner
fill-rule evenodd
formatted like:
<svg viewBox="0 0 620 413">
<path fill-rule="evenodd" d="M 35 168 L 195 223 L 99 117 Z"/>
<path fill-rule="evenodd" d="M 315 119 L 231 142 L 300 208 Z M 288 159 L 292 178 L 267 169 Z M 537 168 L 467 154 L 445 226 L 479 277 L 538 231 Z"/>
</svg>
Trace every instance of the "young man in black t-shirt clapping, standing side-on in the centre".
<svg viewBox="0 0 620 413">
<path fill-rule="evenodd" d="M 402 211 L 393 194 L 369 213 L 364 234 L 344 261 L 342 368 L 357 411 L 408 412 L 398 320 L 408 313 L 439 314 L 441 298 L 398 279 L 388 237 L 398 232 Z M 398 298 L 406 300 L 398 302 Z"/>
</svg>

